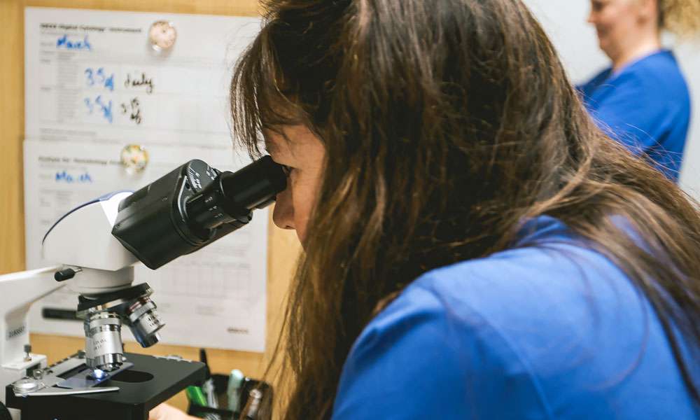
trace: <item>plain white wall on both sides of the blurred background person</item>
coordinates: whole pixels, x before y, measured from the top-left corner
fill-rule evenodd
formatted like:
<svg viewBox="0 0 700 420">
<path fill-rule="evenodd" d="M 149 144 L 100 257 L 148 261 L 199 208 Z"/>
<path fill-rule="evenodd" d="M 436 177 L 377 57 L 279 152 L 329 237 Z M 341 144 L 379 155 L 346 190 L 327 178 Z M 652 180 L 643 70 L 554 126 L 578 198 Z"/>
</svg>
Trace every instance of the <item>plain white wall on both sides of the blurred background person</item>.
<svg viewBox="0 0 700 420">
<path fill-rule="evenodd" d="M 524 0 L 524 3 L 552 39 L 573 83 L 582 83 L 609 65 L 608 57 L 598 49 L 595 30 L 586 22 L 588 0 Z M 693 103 L 680 185 L 700 200 L 700 41 L 673 47 L 668 37 L 665 43 L 671 45 L 680 62 Z"/>
</svg>

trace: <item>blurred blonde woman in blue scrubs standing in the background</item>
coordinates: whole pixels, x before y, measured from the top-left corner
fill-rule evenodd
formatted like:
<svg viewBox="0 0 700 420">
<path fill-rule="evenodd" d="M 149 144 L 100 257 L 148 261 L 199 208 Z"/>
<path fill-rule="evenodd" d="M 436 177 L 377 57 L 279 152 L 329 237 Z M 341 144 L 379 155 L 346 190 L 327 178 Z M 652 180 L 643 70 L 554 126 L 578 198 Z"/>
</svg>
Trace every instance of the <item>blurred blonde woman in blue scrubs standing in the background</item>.
<svg viewBox="0 0 700 420">
<path fill-rule="evenodd" d="M 591 0 L 588 22 L 612 64 L 579 87 L 598 126 L 678 181 L 690 96 L 661 32 L 700 32 L 699 0 Z"/>
</svg>

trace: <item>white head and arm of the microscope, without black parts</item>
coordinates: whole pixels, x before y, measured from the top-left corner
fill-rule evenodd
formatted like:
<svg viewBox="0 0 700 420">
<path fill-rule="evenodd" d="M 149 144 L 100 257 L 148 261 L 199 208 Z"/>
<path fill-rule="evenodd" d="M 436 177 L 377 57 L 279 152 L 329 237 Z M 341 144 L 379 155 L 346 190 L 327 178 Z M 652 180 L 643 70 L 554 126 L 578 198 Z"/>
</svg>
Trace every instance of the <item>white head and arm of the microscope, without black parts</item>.
<svg viewBox="0 0 700 420">
<path fill-rule="evenodd" d="M 42 252 L 45 260 L 57 265 L 0 276 L 0 402 L 5 402 L 7 384 L 47 365 L 45 356 L 25 351 L 29 344 L 27 314 L 36 300 L 66 286 L 55 278 L 57 272 L 74 272 L 71 288 L 88 298 L 132 285 L 133 265 L 138 260 L 111 235 L 118 205 L 131 194 L 102 197 L 55 223 L 43 239 Z M 87 346 L 86 351 L 90 353 Z"/>
</svg>

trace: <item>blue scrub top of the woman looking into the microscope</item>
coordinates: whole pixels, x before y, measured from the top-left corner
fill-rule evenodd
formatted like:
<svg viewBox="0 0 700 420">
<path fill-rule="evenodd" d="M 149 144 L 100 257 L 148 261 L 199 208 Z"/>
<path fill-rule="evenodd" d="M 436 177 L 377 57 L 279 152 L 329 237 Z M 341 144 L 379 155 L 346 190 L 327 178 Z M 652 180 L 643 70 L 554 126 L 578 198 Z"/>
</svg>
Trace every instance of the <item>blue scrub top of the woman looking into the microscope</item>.
<svg viewBox="0 0 700 420">
<path fill-rule="evenodd" d="M 650 303 L 554 218 L 430 271 L 367 325 L 332 418 L 696 419 Z"/>
</svg>

